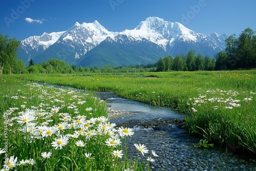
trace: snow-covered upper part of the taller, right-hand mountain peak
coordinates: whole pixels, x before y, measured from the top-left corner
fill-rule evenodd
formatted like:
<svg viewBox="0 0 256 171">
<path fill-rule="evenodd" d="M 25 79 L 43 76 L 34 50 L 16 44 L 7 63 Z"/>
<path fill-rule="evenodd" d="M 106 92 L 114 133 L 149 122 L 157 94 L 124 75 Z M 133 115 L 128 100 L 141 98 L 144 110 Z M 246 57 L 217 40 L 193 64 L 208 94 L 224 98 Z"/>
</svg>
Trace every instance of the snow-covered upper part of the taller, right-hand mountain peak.
<svg viewBox="0 0 256 171">
<path fill-rule="evenodd" d="M 178 22 L 167 22 L 159 17 L 148 17 L 135 29 L 125 30 L 120 34 L 125 34 L 137 40 L 147 39 L 164 50 L 169 46 L 173 46 L 175 41 L 191 42 L 193 44 L 199 43 L 202 39 L 216 41 L 213 35 L 196 33 Z M 219 35 L 218 37 L 219 42 L 223 42 L 226 36 Z M 213 43 L 211 45 L 215 46 Z"/>
</svg>

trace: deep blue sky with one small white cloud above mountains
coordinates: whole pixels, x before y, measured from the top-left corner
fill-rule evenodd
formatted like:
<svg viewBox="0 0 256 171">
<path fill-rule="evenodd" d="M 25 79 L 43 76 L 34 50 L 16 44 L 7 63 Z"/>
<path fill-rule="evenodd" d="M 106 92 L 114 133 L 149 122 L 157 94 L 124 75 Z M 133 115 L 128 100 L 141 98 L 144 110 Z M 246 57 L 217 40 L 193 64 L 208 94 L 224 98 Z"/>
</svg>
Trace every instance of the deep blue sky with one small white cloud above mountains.
<svg viewBox="0 0 256 171">
<path fill-rule="evenodd" d="M 6 0 L 0 2 L 0 32 L 22 40 L 94 20 L 123 31 L 157 16 L 198 33 L 239 35 L 248 27 L 256 31 L 255 7 L 255 0 Z"/>
</svg>

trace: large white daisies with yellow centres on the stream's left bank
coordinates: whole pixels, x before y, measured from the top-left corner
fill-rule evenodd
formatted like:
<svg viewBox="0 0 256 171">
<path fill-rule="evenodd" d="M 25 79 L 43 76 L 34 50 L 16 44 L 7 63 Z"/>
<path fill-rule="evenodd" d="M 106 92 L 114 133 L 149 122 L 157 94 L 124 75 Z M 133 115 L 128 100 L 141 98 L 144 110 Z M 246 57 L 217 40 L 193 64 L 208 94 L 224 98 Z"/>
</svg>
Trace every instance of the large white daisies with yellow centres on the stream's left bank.
<svg viewBox="0 0 256 171">
<path fill-rule="evenodd" d="M 70 163 L 69 159 L 74 155 L 77 162 L 81 163 L 95 160 L 88 162 L 93 164 L 97 158 L 100 158 L 97 161 L 101 161 L 103 157 L 118 164 L 124 156 L 123 150 L 126 150 L 122 148 L 122 140 L 134 135 L 134 132 L 128 127 L 117 128 L 115 123 L 110 122 L 106 117 L 104 101 L 72 89 L 46 89 L 35 83 L 26 86 L 36 93 L 22 94 L 19 91 L 15 98 L 5 96 L 23 102 L 4 112 L 9 119 L 9 137 L 18 140 L 15 140 L 16 153 L 8 154 L 9 158 L 3 163 L 2 170 L 26 169 L 31 166 L 36 169 L 39 166 L 37 162 L 40 166 L 46 165 L 48 160 L 58 162 L 59 156 L 65 156 L 67 163 Z M 9 141 L 10 144 L 12 142 Z M 144 145 L 135 146 L 142 155 L 148 153 Z M 23 149 L 27 156 L 17 157 L 19 153 L 24 153 Z M 5 151 L 0 148 L 1 153 Z M 155 152 L 152 154 L 157 156 Z M 154 162 L 152 157 L 147 160 Z"/>
</svg>

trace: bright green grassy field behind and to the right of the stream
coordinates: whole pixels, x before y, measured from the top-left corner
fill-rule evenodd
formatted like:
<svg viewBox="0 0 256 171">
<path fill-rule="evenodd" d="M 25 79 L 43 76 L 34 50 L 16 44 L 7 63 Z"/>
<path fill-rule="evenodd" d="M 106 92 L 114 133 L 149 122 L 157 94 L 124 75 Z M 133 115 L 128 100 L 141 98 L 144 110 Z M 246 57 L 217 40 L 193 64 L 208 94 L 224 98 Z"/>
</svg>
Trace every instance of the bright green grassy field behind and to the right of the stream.
<svg viewBox="0 0 256 171">
<path fill-rule="evenodd" d="M 239 154 L 256 154 L 255 70 L 136 74 L 92 73 L 83 75 L 23 74 L 2 75 L 0 78 L 2 92 L 0 109 L 2 113 L 9 108 L 20 108 L 23 102 L 15 103 L 15 100 L 10 97 L 17 96 L 16 94 L 25 96 L 20 94 L 23 91 L 17 91 L 18 88 L 24 89 L 24 80 L 70 86 L 80 90 L 111 91 L 121 97 L 151 105 L 170 106 L 173 110 L 187 114 L 185 126 L 190 134 L 200 136 L 202 139 L 207 139 L 216 145 L 226 146 L 229 151 L 238 152 Z M 29 97 L 33 97 L 33 91 L 30 89 L 28 88 L 28 90 L 24 91 L 29 94 Z M 34 93 L 41 94 L 38 91 Z M 45 98 L 45 100 L 51 101 L 51 99 Z M 69 98 L 63 97 L 63 99 Z M 38 104 L 33 105 L 38 106 L 39 102 L 40 100 L 38 100 Z M 32 104 L 27 103 L 26 105 L 30 106 Z M 56 106 L 56 104 L 52 106 L 54 105 Z M 93 106 L 93 109 L 99 108 L 97 112 L 95 111 L 96 116 L 93 117 L 100 117 L 100 114 L 106 116 L 102 109 L 103 104 L 100 106 L 96 103 L 95 106 L 95 102 L 92 102 L 87 105 L 88 108 L 90 106 Z M 64 112 L 66 111 L 64 110 Z M 87 111 L 81 110 L 80 113 L 87 113 Z M 14 135 L 12 135 L 13 138 L 15 138 Z M 74 153 L 73 147 L 68 150 Z M 60 152 L 57 152 L 57 155 L 60 155 L 58 153 Z M 109 153 L 109 151 L 106 152 L 104 156 L 108 156 Z M 68 160 L 76 161 L 70 157 L 69 159 L 63 158 L 61 160 L 65 160 L 65 162 L 68 162 Z M 110 164 L 108 162 L 110 161 L 104 161 L 103 164 Z M 124 163 L 128 165 L 127 162 Z M 73 168 L 75 168 L 74 165 L 72 165 Z M 129 165 L 132 164 L 129 162 Z M 123 168 L 124 166 L 122 165 L 119 168 L 121 167 Z M 138 166 L 138 169 L 142 169 L 142 167 Z"/>
</svg>

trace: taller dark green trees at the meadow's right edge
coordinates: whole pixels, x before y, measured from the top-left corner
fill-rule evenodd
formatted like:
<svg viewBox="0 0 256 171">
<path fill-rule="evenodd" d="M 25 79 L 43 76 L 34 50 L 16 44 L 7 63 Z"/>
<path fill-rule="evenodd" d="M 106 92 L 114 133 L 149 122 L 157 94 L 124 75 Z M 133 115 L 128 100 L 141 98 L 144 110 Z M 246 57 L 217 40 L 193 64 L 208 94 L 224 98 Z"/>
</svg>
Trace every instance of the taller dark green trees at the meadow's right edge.
<svg viewBox="0 0 256 171">
<path fill-rule="evenodd" d="M 156 71 L 212 71 L 256 67 L 256 36 L 252 29 L 245 29 L 239 37 L 233 34 L 225 42 L 225 51 L 218 52 L 212 59 L 201 54 L 196 56 L 196 52 L 190 50 L 187 55 L 160 58 Z"/>
</svg>

